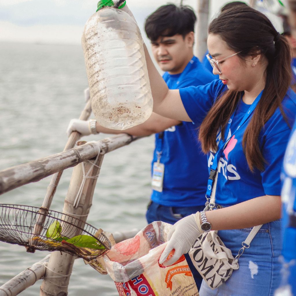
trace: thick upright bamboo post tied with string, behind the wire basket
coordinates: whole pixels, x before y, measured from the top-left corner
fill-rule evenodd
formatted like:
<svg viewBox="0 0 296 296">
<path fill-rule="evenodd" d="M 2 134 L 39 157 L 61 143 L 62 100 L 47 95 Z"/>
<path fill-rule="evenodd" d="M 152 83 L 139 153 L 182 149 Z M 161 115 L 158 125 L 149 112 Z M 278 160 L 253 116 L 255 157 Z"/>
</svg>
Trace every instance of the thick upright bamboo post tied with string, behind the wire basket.
<svg viewBox="0 0 296 296">
<path fill-rule="evenodd" d="M 90 162 L 84 162 L 74 168 L 63 213 L 86 221 L 103 157 L 104 154 L 100 154 L 95 163 L 92 160 L 95 165 Z M 88 178 L 85 178 L 85 176 L 88 176 Z M 63 228 L 62 224 L 61 226 Z M 83 228 L 83 225 L 79 226 Z M 72 228 L 75 229 L 75 226 Z M 71 229 L 69 231 L 72 232 Z M 81 234 L 81 231 L 77 229 L 74 235 L 79 234 Z M 63 235 L 67 236 L 67 233 L 63 233 Z M 40 296 L 68 295 L 68 284 L 74 260 L 75 257 L 67 253 L 59 251 L 52 253 L 49 259 L 48 269 L 40 287 Z"/>
</svg>

